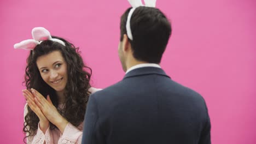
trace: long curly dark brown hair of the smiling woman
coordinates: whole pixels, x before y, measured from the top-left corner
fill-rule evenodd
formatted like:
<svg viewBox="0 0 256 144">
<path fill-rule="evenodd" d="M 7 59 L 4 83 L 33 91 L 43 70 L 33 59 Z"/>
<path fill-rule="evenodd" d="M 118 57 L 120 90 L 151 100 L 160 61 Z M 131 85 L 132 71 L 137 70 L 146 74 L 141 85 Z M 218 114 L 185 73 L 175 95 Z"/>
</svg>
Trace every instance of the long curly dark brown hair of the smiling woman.
<svg viewBox="0 0 256 144">
<path fill-rule="evenodd" d="M 91 69 L 86 67 L 82 57 L 80 56 L 79 48 L 74 47 L 73 44 L 69 43 L 67 40 L 59 37 L 54 37 L 62 40 L 66 46 L 61 45 L 55 41 L 45 40 L 39 45 L 37 45 L 27 58 L 27 67 L 25 74 L 25 81 L 27 89 L 37 89 L 39 93 L 44 95 L 50 95 L 51 101 L 55 107 L 58 107 L 58 98 L 56 91 L 47 85 L 42 77 L 40 76 L 36 61 L 37 58 L 43 55 L 47 55 L 53 51 L 60 51 L 63 58 L 67 63 L 67 75 L 68 81 L 66 84 L 65 92 L 65 104 L 62 110 L 58 109 L 63 117 L 74 126 L 78 126 L 84 120 L 86 104 L 89 99 L 89 88 Z M 84 69 L 90 70 L 90 73 L 86 72 Z M 25 116 L 23 131 L 27 136 L 36 134 L 38 128 L 39 118 L 36 113 L 34 113 L 29 106 L 27 106 L 27 115 Z M 55 125 L 50 124 L 50 128 L 56 128 Z"/>
</svg>

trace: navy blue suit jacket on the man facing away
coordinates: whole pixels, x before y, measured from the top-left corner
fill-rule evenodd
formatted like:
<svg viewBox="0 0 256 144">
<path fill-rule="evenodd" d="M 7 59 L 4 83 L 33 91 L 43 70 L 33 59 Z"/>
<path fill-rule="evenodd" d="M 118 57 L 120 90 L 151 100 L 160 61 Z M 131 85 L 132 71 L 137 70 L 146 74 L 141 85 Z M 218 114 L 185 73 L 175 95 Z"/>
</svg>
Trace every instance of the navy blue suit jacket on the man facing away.
<svg viewBox="0 0 256 144">
<path fill-rule="evenodd" d="M 154 67 L 91 94 L 84 122 L 84 144 L 211 143 L 205 100 Z"/>
</svg>

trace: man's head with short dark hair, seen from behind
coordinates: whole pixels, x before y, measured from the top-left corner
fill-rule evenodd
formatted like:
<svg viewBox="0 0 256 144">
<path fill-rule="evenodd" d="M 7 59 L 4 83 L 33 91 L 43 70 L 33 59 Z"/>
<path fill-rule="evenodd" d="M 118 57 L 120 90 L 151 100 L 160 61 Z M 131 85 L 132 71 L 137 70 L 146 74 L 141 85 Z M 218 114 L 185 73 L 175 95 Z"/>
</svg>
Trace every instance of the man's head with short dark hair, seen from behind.
<svg viewBox="0 0 256 144">
<path fill-rule="evenodd" d="M 136 61 L 159 64 L 171 35 L 171 24 L 157 8 L 138 7 L 130 27 L 133 40 L 127 37 L 126 22 L 131 8 L 121 16 L 119 57 L 126 71 L 129 53 Z"/>
</svg>

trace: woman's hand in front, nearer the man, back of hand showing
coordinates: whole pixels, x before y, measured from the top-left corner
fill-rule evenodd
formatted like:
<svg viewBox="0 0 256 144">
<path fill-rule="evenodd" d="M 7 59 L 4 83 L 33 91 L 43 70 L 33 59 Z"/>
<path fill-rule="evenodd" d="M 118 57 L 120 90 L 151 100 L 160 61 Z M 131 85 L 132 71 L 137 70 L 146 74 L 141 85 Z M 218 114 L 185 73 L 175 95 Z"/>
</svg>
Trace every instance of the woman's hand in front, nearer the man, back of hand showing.
<svg viewBox="0 0 256 144">
<path fill-rule="evenodd" d="M 68 121 L 63 118 L 60 113 L 57 111 L 56 107 L 51 102 L 49 95 L 46 99 L 40 94 L 36 89 L 31 88 L 31 91 L 34 95 L 34 101 L 36 101 L 37 106 L 43 112 L 44 116 L 63 133 L 68 124 Z"/>
</svg>

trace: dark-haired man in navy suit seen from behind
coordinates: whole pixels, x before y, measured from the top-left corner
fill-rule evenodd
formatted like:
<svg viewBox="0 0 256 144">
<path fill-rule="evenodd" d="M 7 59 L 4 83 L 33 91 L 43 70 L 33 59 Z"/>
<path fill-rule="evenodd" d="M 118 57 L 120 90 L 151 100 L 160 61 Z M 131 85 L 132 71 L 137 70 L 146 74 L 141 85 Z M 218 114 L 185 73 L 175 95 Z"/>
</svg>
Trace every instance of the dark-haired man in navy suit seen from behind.
<svg viewBox="0 0 256 144">
<path fill-rule="evenodd" d="M 83 143 L 211 143 L 205 101 L 159 65 L 170 22 L 156 8 L 133 9 L 129 19 L 130 10 L 120 23 L 119 57 L 126 75 L 90 95 Z"/>
</svg>

